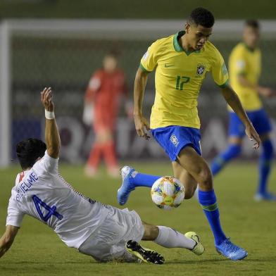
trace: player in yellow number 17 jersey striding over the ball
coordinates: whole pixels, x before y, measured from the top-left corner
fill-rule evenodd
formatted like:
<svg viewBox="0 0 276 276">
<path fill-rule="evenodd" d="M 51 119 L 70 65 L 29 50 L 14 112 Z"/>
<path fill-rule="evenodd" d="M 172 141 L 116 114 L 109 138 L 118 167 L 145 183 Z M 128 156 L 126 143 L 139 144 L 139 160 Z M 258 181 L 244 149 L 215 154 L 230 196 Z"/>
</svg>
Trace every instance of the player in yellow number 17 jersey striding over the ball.
<svg viewBox="0 0 276 276">
<path fill-rule="evenodd" d="M 254 148 L 258 148 L 260 138 L 237 94 L 227 84 L 227 68 L 220 52 L 208 42 L 213 24 L 210 11 L 196 8 L 189 15 L 183 31 L 151 44 L 142 57 L 135 77 L 134 123 L 140 137 L 149 139 L 147 131 L 151 131 L 168 153 L 174 176 L 184 184 L 185 199 L 194 195 L 199 184 L 199 203 L 213 231 L 216 250 L 231 260 L 241 260 L 247 252 L 230 242 L 222 231 L 212 172 L 201 156 L 197 98 L 208 72 L 211 72 L 225 100 L 244 123 L 248 137 L 255 139 Z M 156 97 L 149 126 L 142 113 L 142 102 L 147 75 L 153 70 L 156 70 Z M 135 187 L 151 187 L 160 177 L 139 173 L 129 166 L 123 167 L 121 172 L 123 184 L 118 190 L 120 205 L 126 203 Z M 165 231 L 159 235 L 164 241 L 168 239 Z"/>
</svg>

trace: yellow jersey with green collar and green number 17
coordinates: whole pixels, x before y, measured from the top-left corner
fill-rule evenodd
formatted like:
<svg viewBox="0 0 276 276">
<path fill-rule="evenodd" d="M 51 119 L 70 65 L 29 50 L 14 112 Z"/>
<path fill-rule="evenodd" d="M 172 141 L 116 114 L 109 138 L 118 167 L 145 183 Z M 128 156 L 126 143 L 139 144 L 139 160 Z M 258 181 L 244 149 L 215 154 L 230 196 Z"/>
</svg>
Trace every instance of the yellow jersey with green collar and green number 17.
<svg viewBox="0 0 276 276">
<path fill-rule="evenodd" d="M 142 57 L 142 70 L 156 69 L 151 129 L 168 125 L 199 129 L 197 99 L 206 73 L 211 71 L 219 86 L 227 85 L 227 68 L 218 49 L 206 42 L 201 50 L 184 51 L 178 42 L 184 33 L 156 40 Z"/>
</svg>

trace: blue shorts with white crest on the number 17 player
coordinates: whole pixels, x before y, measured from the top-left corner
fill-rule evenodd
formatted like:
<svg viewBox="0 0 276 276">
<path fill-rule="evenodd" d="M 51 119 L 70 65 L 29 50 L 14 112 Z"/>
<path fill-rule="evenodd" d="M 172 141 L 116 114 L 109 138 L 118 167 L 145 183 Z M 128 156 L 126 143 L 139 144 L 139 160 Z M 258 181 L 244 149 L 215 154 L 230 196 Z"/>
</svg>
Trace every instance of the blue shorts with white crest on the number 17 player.
<svg viewBox="0 0 276 276">
<path fill-rule="evenodd" d="M 201 155 L 200 130 L 193 127 L 180 127 L 170 125 L 168 127 L 158 127 L 151 130 L 151 133 L 160 144 L 171 161 L 176 161 L 180 151 L 185 146 L 192 146 Z"/>
</svg>

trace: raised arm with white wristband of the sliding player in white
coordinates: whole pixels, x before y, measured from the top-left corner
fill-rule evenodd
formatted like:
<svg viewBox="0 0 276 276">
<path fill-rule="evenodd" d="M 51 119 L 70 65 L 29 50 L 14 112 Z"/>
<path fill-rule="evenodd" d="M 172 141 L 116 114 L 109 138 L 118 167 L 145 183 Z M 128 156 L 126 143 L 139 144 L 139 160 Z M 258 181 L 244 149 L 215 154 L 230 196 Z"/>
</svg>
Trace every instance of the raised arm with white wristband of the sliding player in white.
<svg viewBox="0 0 276 276">
<path fill-rule="evenodd" d="M 54 115 L 54 102 L 51 87 L 44 88 L 41 92 L 42 104 L 45 108 L 45 141 L 47 153 L 51 158 L 58 158 L 61 148 L 61 138 L 58 133 L 58 126 Z"/>
</svg>

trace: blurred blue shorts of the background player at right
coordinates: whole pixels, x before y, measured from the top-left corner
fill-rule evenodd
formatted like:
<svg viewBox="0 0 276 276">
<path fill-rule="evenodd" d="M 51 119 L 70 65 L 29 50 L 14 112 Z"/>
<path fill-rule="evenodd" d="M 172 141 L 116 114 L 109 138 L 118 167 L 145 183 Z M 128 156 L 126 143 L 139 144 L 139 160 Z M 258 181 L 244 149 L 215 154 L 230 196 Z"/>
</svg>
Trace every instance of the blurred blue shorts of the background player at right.
<svg viewBox="0 0 276 276">
<path fill-rule="evenodd" d="M 267 113 L 264 109 L 261 108 L 258 111 L 246 111 L 246 114 L 249 116 L 253 127 L 255 127 L 258 134 L 265 134 L 272 130 L 270 120 Z M 230 123 L 229 123 L 229 136 L 244 137 L 245 127 L 236 113 L 230 112 Z"/>
</svg>

